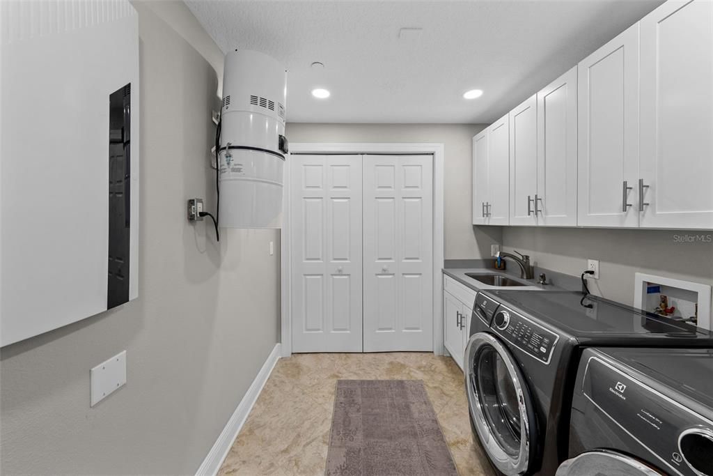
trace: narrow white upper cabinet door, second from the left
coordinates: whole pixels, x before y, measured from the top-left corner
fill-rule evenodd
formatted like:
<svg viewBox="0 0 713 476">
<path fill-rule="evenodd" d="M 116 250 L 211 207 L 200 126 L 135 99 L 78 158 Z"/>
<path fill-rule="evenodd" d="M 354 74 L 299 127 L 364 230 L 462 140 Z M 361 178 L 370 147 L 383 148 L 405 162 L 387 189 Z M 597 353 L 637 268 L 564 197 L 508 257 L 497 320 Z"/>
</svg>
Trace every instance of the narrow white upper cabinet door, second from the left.
<svg viewBox="0 0 713 476">
<path fill-rule="evenodd" d="M 488 127 L 488 225 L 507 225 L 510 217 L 510 134 L 508 116 Z"/>
</svg>

